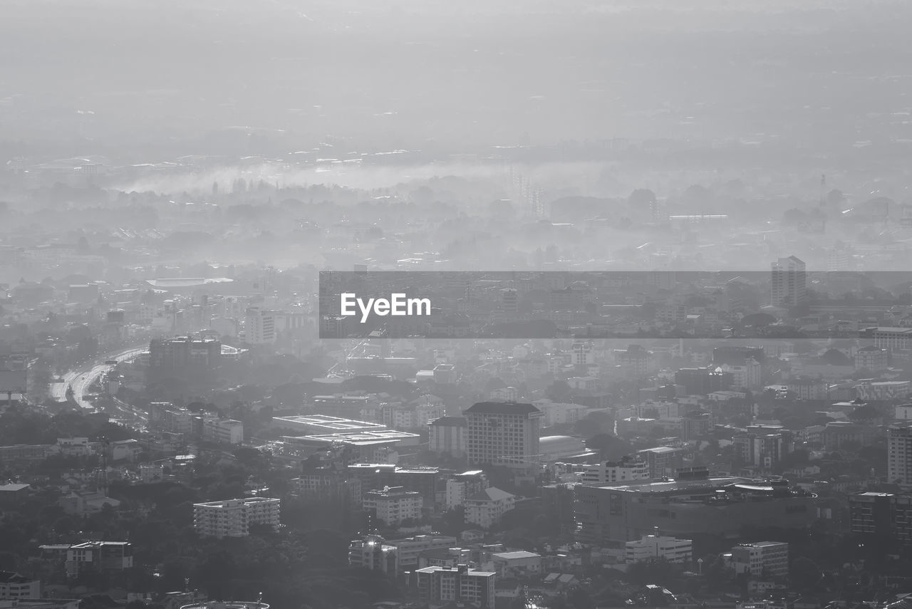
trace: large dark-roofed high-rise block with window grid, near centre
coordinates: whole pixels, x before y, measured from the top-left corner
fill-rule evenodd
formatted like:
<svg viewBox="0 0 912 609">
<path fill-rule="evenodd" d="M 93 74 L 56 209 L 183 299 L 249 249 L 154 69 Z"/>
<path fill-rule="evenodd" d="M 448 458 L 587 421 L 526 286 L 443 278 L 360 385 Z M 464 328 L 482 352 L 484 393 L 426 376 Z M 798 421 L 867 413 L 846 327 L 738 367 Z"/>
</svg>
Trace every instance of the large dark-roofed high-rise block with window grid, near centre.
<svg viewBox="0 0 912 609">
<path fill-rule="evenodd" d="M 479 402 L 465 411 L 470 464 L 532 470 L 540 460 L 543 413 L 532 404 Z"/>
</svg>

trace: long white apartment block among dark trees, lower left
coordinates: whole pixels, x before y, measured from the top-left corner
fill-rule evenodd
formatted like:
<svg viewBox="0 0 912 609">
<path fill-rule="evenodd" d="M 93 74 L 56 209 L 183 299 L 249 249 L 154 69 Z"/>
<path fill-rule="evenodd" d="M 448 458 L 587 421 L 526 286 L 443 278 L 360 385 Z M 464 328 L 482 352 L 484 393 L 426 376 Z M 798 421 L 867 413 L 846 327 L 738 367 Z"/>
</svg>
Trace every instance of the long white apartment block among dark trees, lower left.
<svg viewBox="0 0 912 609">
<path fill-rule="evenodd" d="M 279 525 L 281 500 L 266 497 L 193 504 L 193 528 L 209 537 L 244 537 L 251 524 Z"/>
</svg>

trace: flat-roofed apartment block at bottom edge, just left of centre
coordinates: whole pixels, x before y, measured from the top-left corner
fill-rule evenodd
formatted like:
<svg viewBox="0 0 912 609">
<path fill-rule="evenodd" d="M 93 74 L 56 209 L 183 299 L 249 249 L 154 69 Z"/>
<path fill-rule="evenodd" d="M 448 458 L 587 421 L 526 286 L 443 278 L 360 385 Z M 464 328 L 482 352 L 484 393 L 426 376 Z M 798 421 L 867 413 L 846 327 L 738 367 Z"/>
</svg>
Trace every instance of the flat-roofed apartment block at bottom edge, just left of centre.
<svg viewBox="0 0 912 609">
<path fill-rule="evenodd" d="M 475 571 L 467 565 L 426 567 L 415 572 L 419 602 L 430 607 L 469 603 L 493 609 L 497 573 Z"/>
</svg>

